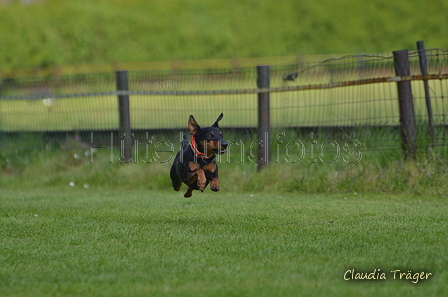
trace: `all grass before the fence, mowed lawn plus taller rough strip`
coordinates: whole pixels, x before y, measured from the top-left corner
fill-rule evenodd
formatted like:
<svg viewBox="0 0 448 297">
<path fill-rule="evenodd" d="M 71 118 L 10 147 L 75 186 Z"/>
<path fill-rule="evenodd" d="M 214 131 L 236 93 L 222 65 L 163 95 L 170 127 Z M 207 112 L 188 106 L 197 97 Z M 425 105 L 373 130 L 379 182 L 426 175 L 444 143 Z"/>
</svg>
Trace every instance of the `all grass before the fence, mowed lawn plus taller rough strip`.
<svg viewBox="0 0 448 297">
<path fill-rule="evenodd" d="M 226 133 L 235 143 L 219 159 L 221 191 L 185 199 L 169 179 L 178 134 L 173 152 L 156 153 L 168 147 L 154 135 L 130 164 L 119 147 L 19 136 L 0 143 L 1 296 L 448 292 L 444 146 L 409 161 L 363 146 L 339 156 L 326 146 L 324 157 L 306 147 L 301 159 L 285 145 L 310 136 L 288 134 L 257 173 L 256 139 L 242 147 L 241 134 Z M 346 281 L 350 269 L 387 280 Z M 392 270 L 433 276 L 413 284 Z"/>
</svg>

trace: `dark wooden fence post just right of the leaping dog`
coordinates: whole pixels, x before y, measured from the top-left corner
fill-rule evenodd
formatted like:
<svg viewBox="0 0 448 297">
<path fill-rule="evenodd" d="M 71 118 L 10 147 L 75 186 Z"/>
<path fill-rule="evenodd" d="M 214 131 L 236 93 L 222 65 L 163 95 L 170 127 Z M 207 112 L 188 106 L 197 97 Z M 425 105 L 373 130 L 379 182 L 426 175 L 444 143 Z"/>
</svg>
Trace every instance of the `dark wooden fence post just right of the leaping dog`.
<svg viewBox="0 0 448 297">
<path fill-rule="evenodd" d="M 257 86 L 269 88 L 269 66 L 257 66 Z M 269 163 L 270 154 L 270 99 L 269 92 L 258 93 L 258 171 Z"/>
</svg>

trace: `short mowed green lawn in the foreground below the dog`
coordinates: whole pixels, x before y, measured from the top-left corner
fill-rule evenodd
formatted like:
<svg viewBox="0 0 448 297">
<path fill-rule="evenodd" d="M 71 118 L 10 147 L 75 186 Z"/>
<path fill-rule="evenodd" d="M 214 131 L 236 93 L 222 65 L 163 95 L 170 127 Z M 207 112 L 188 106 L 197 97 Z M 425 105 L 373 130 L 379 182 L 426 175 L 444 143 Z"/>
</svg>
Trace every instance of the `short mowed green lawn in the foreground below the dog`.
<svg viewBox="0 0 448 297">
<path fill-rule="evenodd" d="M 447 296 L 447 214 L 442 196 L 1 190 L 0 295 Z"/>
</svg>

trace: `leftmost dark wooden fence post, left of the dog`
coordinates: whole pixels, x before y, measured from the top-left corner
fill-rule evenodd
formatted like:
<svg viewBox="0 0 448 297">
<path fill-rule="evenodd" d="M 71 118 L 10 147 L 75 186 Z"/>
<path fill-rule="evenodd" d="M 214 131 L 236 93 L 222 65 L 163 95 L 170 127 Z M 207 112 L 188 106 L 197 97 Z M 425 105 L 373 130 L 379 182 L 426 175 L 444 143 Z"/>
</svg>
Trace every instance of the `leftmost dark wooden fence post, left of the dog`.
<svg viewBox="0 0 448 297">
<path fill-rule="evenodd" d="M 128 91 L 128 72 L 115 72 L 117 91 Z M 118 95 L 118 113 L 120 117 L 120 161 L 132 162 L 131 116 L 129 111 L 129 95 Z"/>
</svg>

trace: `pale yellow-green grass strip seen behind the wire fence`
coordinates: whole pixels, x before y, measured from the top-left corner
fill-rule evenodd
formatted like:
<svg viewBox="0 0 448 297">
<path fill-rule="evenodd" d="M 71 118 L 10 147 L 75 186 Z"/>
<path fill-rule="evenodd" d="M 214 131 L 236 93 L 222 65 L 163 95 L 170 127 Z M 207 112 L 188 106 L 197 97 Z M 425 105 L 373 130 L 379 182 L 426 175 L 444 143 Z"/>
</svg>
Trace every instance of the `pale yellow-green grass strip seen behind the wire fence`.
<svg viewBox="0 0 448 297">
<path fill-rule="evenodd" d="M 243 86 L 244 81 L 239 82 Z M 412 83 L 418 120 L 427 121 L 423 82 Z M 194 89 L 194 86 L 190 86 Z M 198 83 L 198 88 L 200 84 Z M 430 81 L 436 124 L 446 122 L 445 84 Z M 273 127 L 397 125 L 396 83 L 347 86 L 323 90 L 272 93 Z M 34 100 L 0 100 L 3 131 L 68 131 L 118 129 L 116 96 Z M 224 112 L 223 127 L 256 127 L 256 94 L 134 95 L 130 97 L 134 129 L 186 128 L 190 114 L 210 125 Z"/>
</svg>

